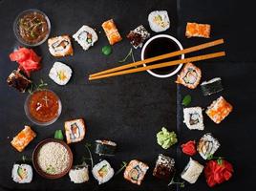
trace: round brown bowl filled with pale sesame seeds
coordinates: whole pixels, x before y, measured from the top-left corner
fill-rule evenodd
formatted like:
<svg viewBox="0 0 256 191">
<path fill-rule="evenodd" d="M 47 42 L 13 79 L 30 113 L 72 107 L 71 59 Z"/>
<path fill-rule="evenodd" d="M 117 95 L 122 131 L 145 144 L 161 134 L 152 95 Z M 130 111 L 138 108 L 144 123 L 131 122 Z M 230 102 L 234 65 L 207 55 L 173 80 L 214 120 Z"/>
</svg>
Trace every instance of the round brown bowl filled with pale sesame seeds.
<svg viewBox="0 0 256 191">
<path fill-rule="evenodd" d="M 46 179 L 59 179 L 69 173 L 73 165 L 73 153 L 63 141 L 45 139 L 32 153 L 35 171 Z"/>
</svg>

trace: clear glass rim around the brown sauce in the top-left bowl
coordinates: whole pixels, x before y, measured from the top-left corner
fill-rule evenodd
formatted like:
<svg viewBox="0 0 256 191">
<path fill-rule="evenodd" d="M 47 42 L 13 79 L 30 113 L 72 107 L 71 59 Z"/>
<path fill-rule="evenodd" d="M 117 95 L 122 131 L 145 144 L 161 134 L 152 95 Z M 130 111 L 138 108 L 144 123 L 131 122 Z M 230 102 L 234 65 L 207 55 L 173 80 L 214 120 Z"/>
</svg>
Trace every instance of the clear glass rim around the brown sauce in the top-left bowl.
<svg viewBox="0 0 256 191">
<path fill-rule="evenodd" d="M 46 22 L 47 22 L 47 26 L 48 26 L 48 32 L 46 33 L 45 37 L 42 38 L 42 40 L 38 41 L 38 42 L 35 42 L 35 43 L 30 43 L 26 40 L 24 40 L 22 38 L 22 36 L 20 35 L 20 32 L 19 32 L 19 21 L 21 18 L 23 18 L 25 15 L 27 14 L 30 14 L 30 13 L 38 13 L 38 14 L 41 14 L 44 16 Z M 15 18 L 14 20 L 14 23 L 13 23 L 13 32 L 17 38 L 17 40 L 25 45 L 25 46 L 28 46 L 28 47 L 36 47 L 36 46 L 39 46 L 41 44 L 43 44 L 49 37 L 50 35 L 50 32 L 51 32 L 51 23 L 50 23 L 50 20 L 48 18 L 48 16 L 43 12 L 43 11 L 39 11 L 39 10 L 27 10 L 27 11 L 22 11 L 21 13 L 18 14 L 18 16 Z"/>
</svg>

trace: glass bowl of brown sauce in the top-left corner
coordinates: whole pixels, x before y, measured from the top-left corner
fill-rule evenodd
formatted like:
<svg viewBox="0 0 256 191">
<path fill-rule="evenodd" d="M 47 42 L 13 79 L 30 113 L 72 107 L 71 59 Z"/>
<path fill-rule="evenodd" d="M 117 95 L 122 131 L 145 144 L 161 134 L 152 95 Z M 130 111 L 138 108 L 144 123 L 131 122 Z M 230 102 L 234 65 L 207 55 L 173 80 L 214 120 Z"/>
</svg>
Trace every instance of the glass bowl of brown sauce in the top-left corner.
<svg viewBox="0 0 256 191">
<path fill-rule="evenodd" d="M 21 44 L 35 47 L 47 40 L 51 32 L 51 23 L 42 11 L 23 11 L 16 17 L 13 31 Z"/>
</svg>

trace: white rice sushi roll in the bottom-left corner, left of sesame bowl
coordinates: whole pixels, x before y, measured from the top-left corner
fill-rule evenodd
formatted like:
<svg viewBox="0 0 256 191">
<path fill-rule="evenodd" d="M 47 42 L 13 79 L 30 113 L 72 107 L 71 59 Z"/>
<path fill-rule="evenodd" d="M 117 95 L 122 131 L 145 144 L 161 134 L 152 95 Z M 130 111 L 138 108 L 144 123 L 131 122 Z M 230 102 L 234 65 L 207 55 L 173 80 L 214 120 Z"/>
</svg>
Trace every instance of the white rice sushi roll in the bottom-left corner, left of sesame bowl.
<svg viewBox="0 0 256 191">
<path fill-rule="evenodd" d="M 17 183 L 32 182 L 32 166 L 30 164 L 14 164 L 11 171 L 11 178 Z"/>
</svg>

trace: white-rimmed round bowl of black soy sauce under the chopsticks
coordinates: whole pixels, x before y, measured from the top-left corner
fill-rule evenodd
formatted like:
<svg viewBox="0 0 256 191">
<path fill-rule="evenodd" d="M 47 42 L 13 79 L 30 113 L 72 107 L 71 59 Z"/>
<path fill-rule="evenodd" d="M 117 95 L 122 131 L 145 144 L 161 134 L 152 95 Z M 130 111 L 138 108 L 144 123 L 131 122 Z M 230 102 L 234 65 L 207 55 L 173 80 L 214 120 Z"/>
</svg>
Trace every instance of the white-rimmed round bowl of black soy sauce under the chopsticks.
<svg viewBox="0 0 256 191">
<path fill-rule="evenodd" d="M 141 60 L 155 57 L 164 53 L 172 53 L 176 51 L 182 50 L 182 45 L 175 37 L 167 34 L 159 34 L 151 37 L 143 46 L 141 51 Z M 152 62 L 149 65 L 159 64 L 163 62 L 168 62 L 177 59 L 183 59 L 184 54 L 179 56 L 170 57 L 166 59 L 162 59 L 160 61 Z M 144 65 L 146 66 L 146 65 Z M 170 77 L 174 74 L 177 74 L 181 70 L 182 64 L 177 66 L 164 67 L 160 69 L 148 70 L 149 74 L 152 74 L 156 77 L 164 78 Z"/>
</svg>

